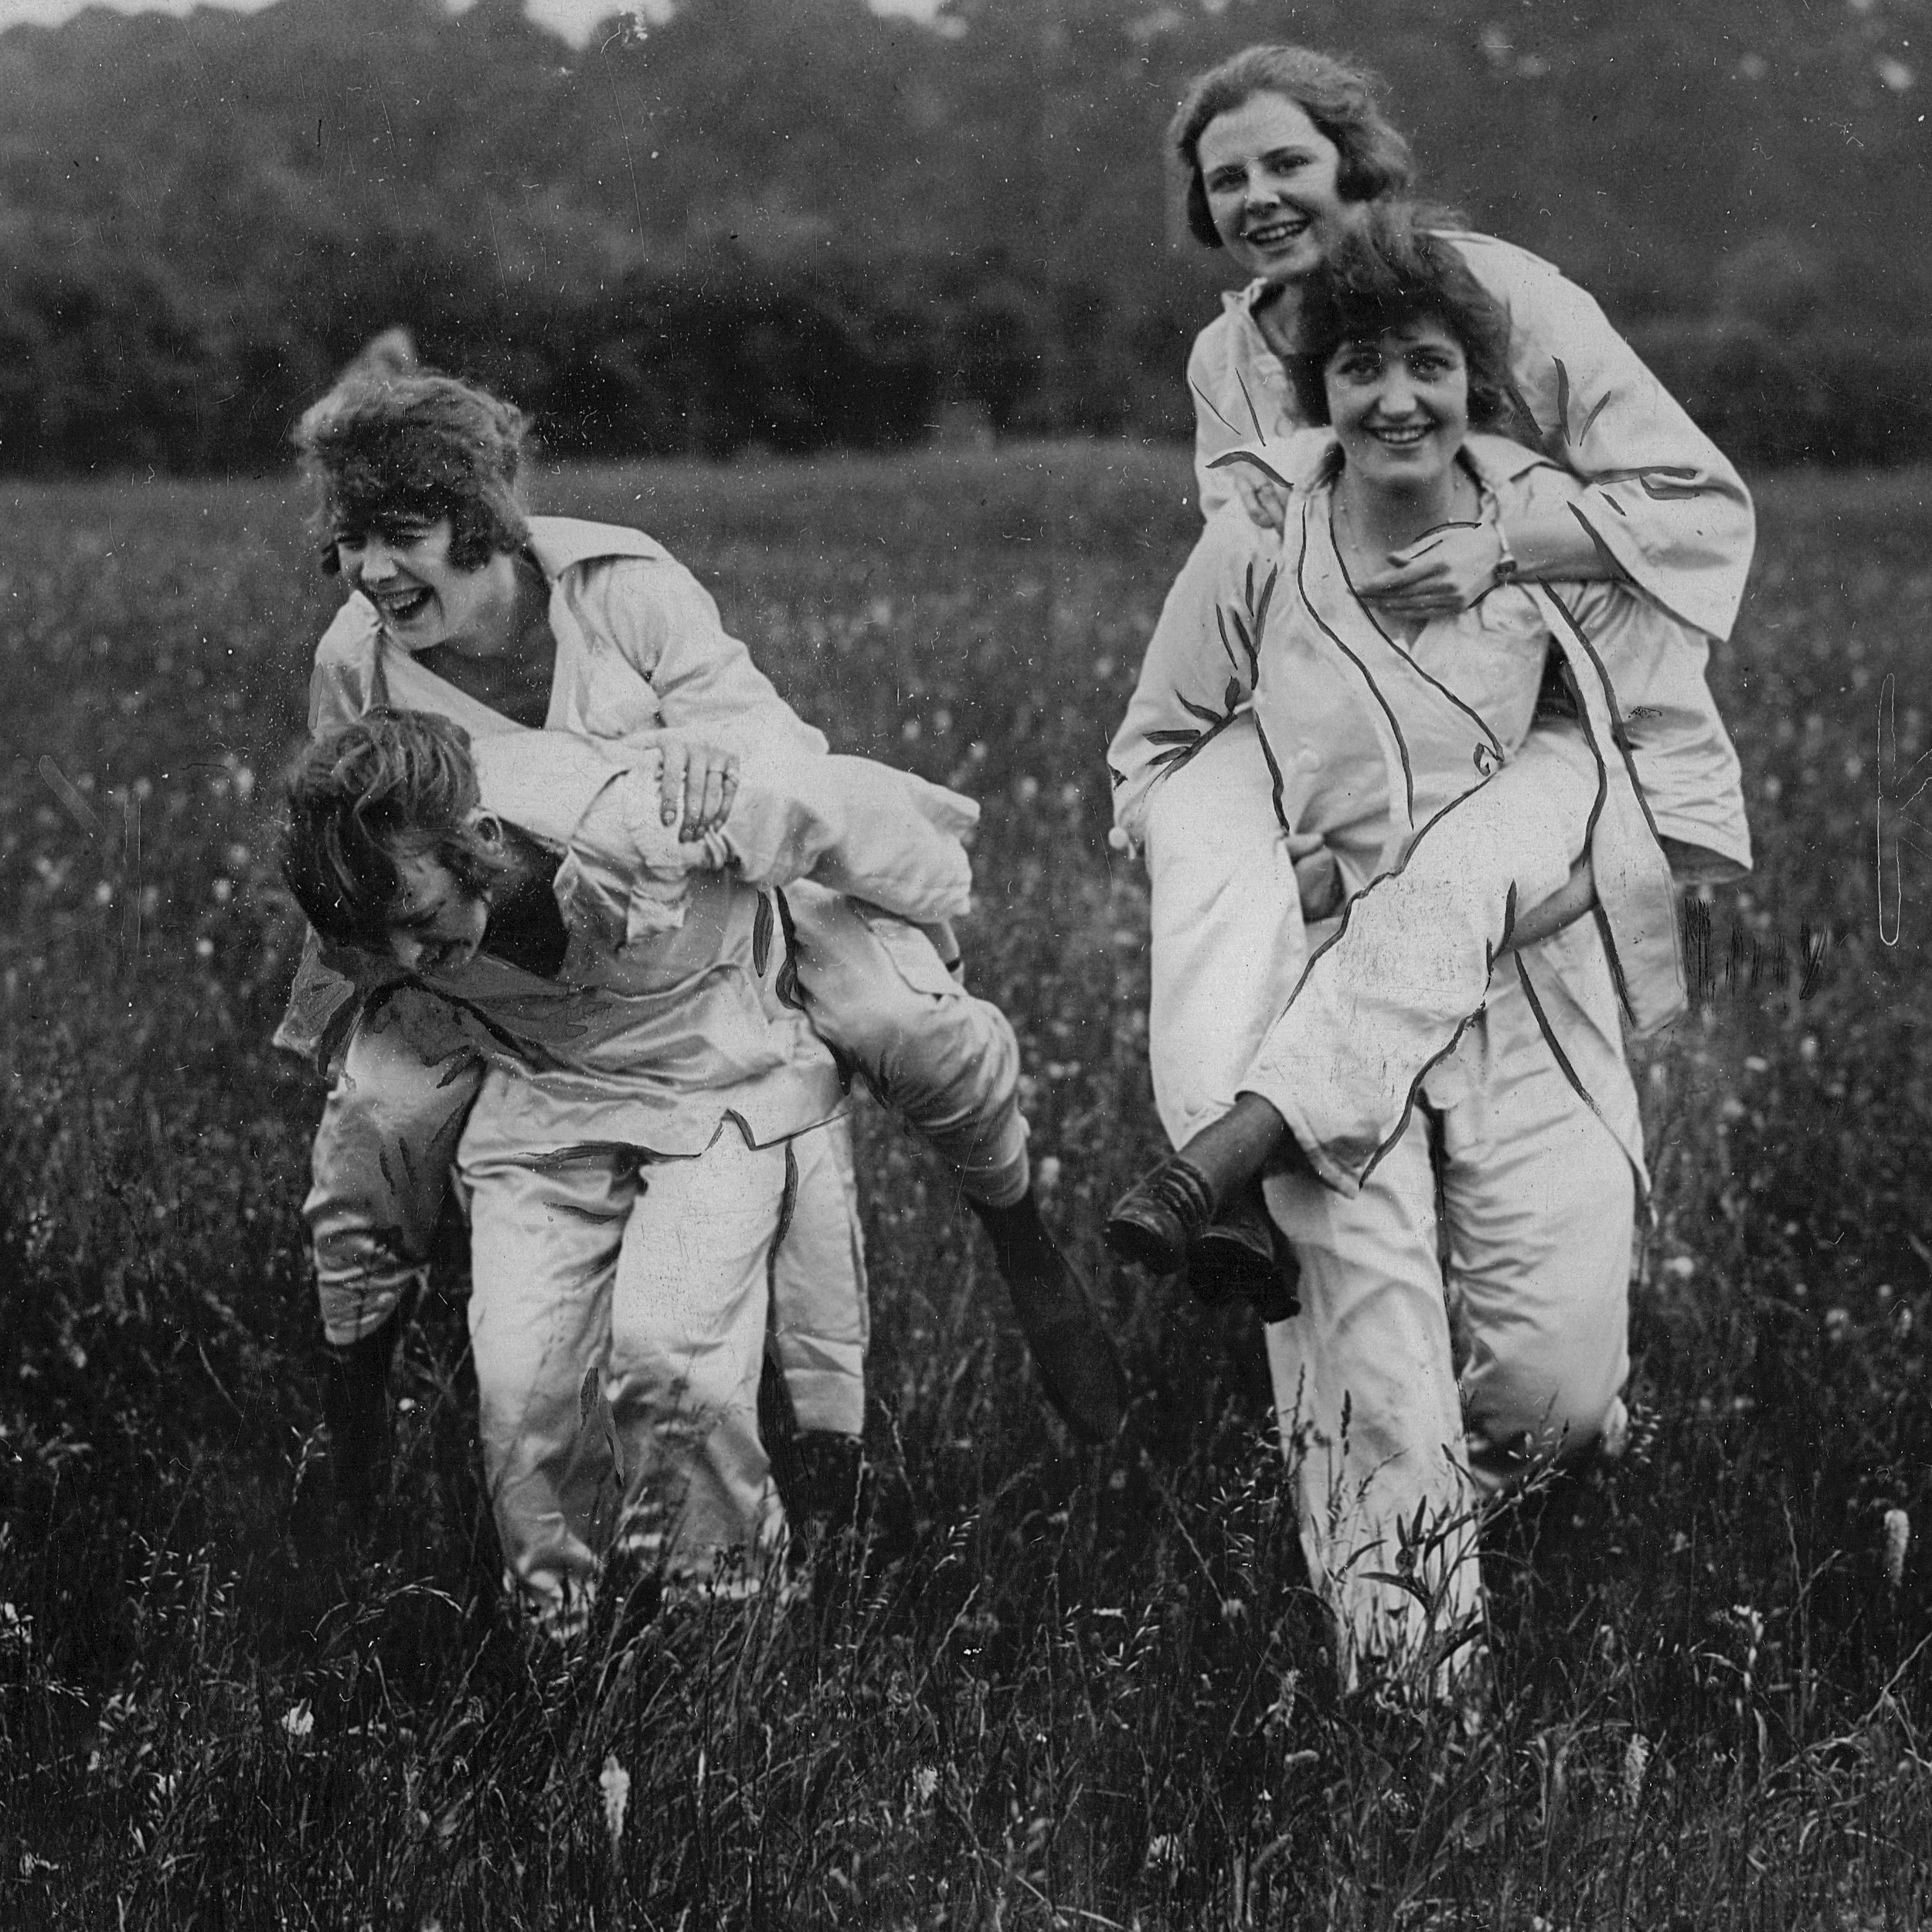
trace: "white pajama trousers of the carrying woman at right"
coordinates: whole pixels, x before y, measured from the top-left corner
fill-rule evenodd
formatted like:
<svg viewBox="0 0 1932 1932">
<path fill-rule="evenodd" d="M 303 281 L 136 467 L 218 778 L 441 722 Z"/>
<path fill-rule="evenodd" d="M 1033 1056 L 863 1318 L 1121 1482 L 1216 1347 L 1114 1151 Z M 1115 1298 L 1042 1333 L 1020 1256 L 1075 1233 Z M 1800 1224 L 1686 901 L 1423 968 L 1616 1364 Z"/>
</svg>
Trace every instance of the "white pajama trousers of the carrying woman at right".
<svg viewBox="0 0 1932 1932">
<path fill-rule="evenodd" d="M 1350 1683 L 1360 1658 L 1422 1658 L 1480 1615 L 1478 1493 L 1621 1430 L 1634 1177 L 1520 987 L 1497 978 L 1435 1082 L 1461 1088 L 1439 1109 L 1461 1383 L 1428 1119 L 1410 1119 L 1352 1198 L 1306 1175 L 1267 1182 L 1302 1265 L 1302 1312 L 1267 1327 L 1267 1366 L 1298 1459 L 1308 1573 Z M 1416 1561 L 1435 1611 L 1372 1577 L 1408 1567 L 1418 1507 L 1424 1542 L 1439 1538 Z"/>
</svg>

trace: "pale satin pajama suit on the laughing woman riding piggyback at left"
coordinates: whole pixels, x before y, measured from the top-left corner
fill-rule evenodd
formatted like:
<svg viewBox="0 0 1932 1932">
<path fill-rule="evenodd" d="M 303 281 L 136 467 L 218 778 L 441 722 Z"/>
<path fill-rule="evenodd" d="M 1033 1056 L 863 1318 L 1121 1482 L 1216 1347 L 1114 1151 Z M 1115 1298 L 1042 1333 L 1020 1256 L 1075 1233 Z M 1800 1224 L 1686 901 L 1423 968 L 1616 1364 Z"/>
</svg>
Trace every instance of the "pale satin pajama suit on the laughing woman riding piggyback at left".
<svg viewBox="0 0 1932 1932">
<path fill-rule="evenodd" d="M 659 728 L 690 730 L 748 755 L 810 759 L 825 740 L 779 697 L 726 636 L 701 585 L 634 529 L 533 518 L 531 549 L 551 578 L 556 672 L 545 726 L 603 744 Z M 317 649 L 313 732 L 375 705 L 437 711 L 471 740 L 520 732 L 383 638 L 350 597 Z M 968 1198 L 1007 1206 L 1026 1194 L 1018 1045 L 1005 1014 L 945 972 L 918 927 L 852 908 L 800 881 L 786 895 L 794 968 L 813 1026 L 954 1165 Z M 419 1279 L 444 1175 L 483 1063 L 415 985 L 357 1024 L 350 985 L 305 966 L 278 1043 L 334 1066 L 305 1204 L 323 1323 L 332 1343 L 381 1327 Z M 406 1024 L 404 1024 L 406 1022 Z M 446 1039 L 433 1065 L 410 1039 Z M 838 1173 L 846 1182 L 838 1182 Z M 808 1225 L 844 1213 L 829 1248 L 858 1252 L 856 1192 L 842 1169 L 804 1177 Z M 817 1202 L 840 1184 L 840 1206 Z M 817 1273 L 804 1242 L 781 1250 L 773 1298 L 777 1352 L 802 1428 L 856 1435 L 864 1424 L 862 1271 Z"/>
</svg>

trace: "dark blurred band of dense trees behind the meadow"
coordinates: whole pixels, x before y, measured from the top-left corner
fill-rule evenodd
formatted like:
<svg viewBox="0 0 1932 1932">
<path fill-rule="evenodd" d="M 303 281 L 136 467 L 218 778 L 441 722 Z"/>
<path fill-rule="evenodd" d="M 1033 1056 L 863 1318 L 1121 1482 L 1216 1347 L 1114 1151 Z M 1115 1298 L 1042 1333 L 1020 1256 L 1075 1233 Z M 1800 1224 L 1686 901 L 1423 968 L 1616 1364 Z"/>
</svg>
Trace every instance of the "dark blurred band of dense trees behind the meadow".
<svg viewBox="0 0 1932 1932">
<path fill-rule="evenodd" d="M 0 35 L 0 468 L 278 460 L 377 328 L 558 450 L 1180 433 L 1217 257 L 1161 128 L 1293 35 L 1594 288 L 1743 458 L 1932 446 L 1928 0 L 518 0 Z"/>
</svg>

